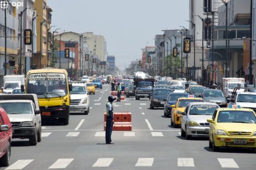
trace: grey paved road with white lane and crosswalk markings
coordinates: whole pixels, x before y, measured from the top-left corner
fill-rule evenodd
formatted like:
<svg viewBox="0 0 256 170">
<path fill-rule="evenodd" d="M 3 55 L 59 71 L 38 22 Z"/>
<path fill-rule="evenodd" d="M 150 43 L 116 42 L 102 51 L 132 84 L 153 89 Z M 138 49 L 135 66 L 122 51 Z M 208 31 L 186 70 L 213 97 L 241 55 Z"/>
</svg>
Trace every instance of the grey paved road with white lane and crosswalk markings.
<svg viewBox="0 0 256 170">
<path fill-rule="evenodd" d="M 212 152 L 208 138 L 187 141 L 180 128 L 170 127 L 163 109 L 149 109 L 149 100 L 126 98 L 114 102 L 114 112 L 132 113 L 132 131 L 113 131 L 106 145 L 104 112 L 110 86 L 90 95 L 90 114 L 71 114 L 69 125 L 48 122 L 42 142 L 12 142 L 10 166 L 1 169 L 255 169 L 252 150 L 222 149 Z"/>
</svg>

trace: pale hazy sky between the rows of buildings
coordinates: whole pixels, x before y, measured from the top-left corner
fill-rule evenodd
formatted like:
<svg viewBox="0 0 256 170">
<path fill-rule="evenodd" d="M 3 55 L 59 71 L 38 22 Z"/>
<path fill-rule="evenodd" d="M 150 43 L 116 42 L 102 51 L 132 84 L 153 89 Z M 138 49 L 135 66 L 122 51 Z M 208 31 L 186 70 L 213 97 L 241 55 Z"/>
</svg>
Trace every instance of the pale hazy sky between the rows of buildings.
<svg viewBox="0 0 256 170">
<path fill-rule="evenodd" d="M 48 0 L 52 25 L 65 31 L 103 35 L 107 54 L 123 70 L 141 59 L 145 46 L 164 29 L 188 28 L 189 0 Z M 148 43 L 147 43 L 148 42 Z"/>
</svg>

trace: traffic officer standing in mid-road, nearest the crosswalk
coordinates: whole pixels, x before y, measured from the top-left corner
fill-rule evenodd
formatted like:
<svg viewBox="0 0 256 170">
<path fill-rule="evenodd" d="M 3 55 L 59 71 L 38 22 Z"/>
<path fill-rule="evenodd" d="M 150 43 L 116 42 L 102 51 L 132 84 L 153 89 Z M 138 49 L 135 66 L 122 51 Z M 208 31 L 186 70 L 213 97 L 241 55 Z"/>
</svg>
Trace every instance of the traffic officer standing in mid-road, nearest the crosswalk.
<svg viewBox="0 0 256 170">
<path fill-rule="evenodd" d="M 116 100 L 114 96 L 110 95 L 108 97 L 108 101 L 106 104 L 107 109 L 107 120 L 106 120 L 106 144 L 111 144 L 111 134 L 112 134 L 112 128 L 114 124 L 114 116 L 113 116 L 113 105 L 112 102 Z"/>
</svg>

